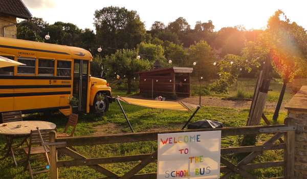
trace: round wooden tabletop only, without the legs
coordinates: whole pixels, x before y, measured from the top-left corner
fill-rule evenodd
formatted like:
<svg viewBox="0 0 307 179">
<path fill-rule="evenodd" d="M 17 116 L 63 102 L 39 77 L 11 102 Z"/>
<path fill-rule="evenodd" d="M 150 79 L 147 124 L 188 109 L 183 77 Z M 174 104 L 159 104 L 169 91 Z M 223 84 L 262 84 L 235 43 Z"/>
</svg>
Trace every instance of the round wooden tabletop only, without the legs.
<svg viewBox="0 0 307 179">
<path fill-rule="evenodd" d="M 7 125 L 7 126 L 3 126 Z M 20 128 L 16 127 L 21 125 Z M 31 130 L 55 129 L 56 125 L 46 121 L 16 121 L 0 124 L 0 135 L 25 136 L 30 135 Z"/>
</svg>

